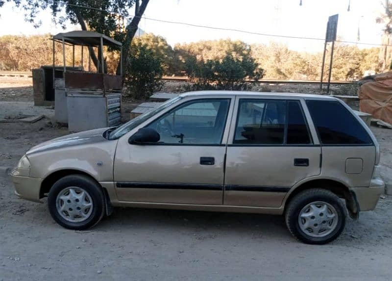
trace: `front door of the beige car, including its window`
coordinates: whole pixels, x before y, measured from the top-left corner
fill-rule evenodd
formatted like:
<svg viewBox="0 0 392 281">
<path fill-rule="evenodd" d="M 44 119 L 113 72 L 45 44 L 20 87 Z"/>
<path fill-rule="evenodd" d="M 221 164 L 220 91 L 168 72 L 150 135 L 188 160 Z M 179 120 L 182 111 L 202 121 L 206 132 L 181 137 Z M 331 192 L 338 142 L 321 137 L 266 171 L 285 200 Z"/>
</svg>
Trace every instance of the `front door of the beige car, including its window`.
<svg viewBox="0 0 392 281">
<path fill-rule="evenodd" d="M 160 141 L 119 142 L 115 184 L 119 201 L 222 204 L 229 98 L 189 100 L 148 124 Z"/>
</svg>

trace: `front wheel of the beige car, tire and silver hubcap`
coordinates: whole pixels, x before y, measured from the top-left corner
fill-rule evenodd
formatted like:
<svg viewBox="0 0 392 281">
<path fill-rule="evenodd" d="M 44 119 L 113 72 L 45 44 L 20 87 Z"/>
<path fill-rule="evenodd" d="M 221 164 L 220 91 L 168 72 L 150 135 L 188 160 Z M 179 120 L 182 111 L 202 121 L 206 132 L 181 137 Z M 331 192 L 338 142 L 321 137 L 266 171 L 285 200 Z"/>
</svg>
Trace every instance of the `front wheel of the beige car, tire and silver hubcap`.
<svg viewBox="0 0 392 281">
<path fill-rule="evenodd" d="M 50 188 L 48 207 L 60 226 L 85 230 L 98 224 L 105 213 L 105 199 L 99 184 L 83 175 L 57 180 Z"/>
</svg>

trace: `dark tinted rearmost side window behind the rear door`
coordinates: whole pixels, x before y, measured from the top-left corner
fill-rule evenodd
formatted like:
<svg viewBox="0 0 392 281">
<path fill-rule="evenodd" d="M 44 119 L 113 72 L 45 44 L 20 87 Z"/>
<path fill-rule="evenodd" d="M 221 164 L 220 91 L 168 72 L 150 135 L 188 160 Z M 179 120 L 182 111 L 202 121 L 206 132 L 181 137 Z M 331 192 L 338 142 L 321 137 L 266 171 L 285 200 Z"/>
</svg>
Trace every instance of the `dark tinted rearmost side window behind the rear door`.
<svg viewBox="0 0 392 281">
<path fill-rule="evenodd" d="M 307 101 L 322 144 L 372 144 L 358 120 L 340 102 Z"/>
</svg>

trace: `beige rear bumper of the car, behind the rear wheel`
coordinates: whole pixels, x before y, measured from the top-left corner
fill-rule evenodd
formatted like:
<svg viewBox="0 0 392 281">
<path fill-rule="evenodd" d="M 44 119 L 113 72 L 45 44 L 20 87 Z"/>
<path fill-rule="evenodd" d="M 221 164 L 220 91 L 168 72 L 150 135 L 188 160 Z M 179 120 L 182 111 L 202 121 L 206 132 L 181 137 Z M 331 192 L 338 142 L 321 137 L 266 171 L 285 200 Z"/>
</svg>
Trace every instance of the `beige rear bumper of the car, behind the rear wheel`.
<svg viewBox="0 0 392 281">
<path fill-rule="evenodd" d="M 371 179 L 369 187 L 352 187 L 359 210 L 370 211 L 374 210 L 377 205 L 380 195 L 385 191 L 385 183 L 381 179 Z"/>
</svg>

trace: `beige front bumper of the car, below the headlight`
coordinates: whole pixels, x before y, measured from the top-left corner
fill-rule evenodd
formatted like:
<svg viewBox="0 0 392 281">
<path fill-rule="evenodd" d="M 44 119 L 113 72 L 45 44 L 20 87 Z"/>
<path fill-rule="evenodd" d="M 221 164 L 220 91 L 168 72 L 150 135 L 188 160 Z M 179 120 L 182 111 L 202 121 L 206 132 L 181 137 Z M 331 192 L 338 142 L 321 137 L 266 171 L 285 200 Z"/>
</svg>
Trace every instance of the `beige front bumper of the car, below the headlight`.
<svg viewBox="0 0 392 281">
<path fill-rule="evenodd" d="M 15 186 L 15 194 L 20 198 L 34 202 L 42 202 L 40 200 L 42 179 L 17 176 L 14 171 L 12 171 L 11 180 Z"/>
</svg>

